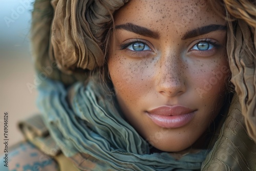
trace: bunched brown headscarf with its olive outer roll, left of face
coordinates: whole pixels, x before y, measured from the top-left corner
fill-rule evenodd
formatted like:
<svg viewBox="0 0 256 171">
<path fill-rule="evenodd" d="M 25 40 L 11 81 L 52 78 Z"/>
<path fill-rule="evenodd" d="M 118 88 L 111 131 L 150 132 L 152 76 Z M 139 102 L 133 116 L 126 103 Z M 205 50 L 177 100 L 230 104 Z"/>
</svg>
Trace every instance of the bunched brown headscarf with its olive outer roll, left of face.
<svg viewBox="0 0 256 171">
<path fill-rule="evenodd" d="M 35 1 L 31 28 L 36 70 L 72 84 L 103 65 L 102 39 L 128 0 Z"/>
</svg>

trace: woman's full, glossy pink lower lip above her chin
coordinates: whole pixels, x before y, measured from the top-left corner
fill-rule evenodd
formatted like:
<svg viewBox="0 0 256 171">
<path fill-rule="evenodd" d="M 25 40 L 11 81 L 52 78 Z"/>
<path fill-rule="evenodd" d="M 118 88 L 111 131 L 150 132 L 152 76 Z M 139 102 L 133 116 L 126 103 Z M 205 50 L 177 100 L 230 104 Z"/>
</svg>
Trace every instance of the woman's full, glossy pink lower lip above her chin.
<svg viewBox="0 0 256 171">
<path fill-rule="evenodd" d="M 186 125 L 191 121 L 195 115 L 195 112 L 188 114 L 177 115 L 177 116 L 165 116 L 147 113 L 148 116 L 155 122 L 158 126 L 166 128 L 176 128 Z"/>
</svg>

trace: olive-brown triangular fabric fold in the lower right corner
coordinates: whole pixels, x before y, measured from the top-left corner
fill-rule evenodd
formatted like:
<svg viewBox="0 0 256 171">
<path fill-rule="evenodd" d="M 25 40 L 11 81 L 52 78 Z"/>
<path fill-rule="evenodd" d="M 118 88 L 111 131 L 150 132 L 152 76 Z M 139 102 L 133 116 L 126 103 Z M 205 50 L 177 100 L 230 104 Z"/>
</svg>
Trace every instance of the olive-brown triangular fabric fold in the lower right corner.
<svg viewBox="0 0 256 171">
<path fill-rule="evenodd" d="M 217 141 L 201 170 L 256 170 L 256 144 L 246 132 L 237 94 L 234 94 L 227 118 L 224 119 Z"/>
</svg>

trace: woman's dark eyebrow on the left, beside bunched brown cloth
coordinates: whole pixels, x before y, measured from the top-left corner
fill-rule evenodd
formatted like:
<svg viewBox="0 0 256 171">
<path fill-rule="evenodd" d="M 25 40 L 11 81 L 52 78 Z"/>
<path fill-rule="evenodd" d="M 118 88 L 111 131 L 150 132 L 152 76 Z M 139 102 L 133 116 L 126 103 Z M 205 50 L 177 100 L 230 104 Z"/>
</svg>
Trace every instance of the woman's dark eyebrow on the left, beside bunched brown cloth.
<svg viewBox="0 0 256 171">
<path fill-rule="evenodd" d="M 135 25 L 132 23 L 117 25 L 115 28 L 116 29 L 124 29 L 124 30 L 130 31 L 130 32 L 134 32 L 136 34 L 142 35 L 142 36 L 146 36 L 146 37 L 151 37 L 151 38 L 155 38 L 155 39 L 160 38 L 160 34 L 158 32 L 152 31 L 150 29 L 147 29 L 145 27 L 138 26 L 138 25 Z"/>
</svg>

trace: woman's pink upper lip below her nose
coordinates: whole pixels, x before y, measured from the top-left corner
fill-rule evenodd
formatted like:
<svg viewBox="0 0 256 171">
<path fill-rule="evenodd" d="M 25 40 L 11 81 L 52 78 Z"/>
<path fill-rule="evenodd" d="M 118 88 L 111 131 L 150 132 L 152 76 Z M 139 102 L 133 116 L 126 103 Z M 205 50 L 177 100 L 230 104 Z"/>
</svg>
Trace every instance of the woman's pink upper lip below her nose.
<svg viewBox="0 0 256 171">
<path fill-rule="evenodd" d="M 177 116 L 177 115 L 188 114 L 194 111 L 196 110 L 186 108 L 182 105 L 175 105 L 175 106 L 164 105 L 147 112 L 153 115 Z"/>
</svg>

